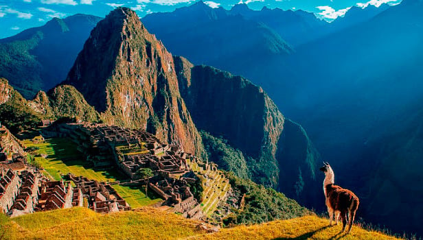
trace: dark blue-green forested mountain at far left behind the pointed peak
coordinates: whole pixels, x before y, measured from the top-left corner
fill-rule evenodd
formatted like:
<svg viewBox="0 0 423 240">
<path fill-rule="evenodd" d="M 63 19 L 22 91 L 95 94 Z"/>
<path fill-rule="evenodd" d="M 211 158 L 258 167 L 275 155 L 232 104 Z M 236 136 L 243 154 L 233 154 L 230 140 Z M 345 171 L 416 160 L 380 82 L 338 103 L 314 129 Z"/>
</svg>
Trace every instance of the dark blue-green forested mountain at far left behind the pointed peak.
<svg viewBox="0 0 423 240">
<path fill-rule="evenodd" d="M 26 99 L 49 90 L 65 80 L 98 21 L 99 17 L 84 14 L 54 18 L 41 27 L 0 39 L 0 77 L 8 79 Z"/>
</svg>

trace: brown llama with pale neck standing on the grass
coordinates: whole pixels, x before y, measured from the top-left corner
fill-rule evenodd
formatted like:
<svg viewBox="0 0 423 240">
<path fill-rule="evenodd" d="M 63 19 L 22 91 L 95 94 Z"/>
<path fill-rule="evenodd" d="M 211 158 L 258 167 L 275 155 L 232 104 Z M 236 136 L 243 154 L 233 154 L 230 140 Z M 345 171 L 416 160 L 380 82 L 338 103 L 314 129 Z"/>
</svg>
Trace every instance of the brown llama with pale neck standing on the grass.
<svg viewBox="0 0 423 240">
<path fill-rule="evenodd" d="M 352 191 L 343 189 L 334 184 L 334 171 L 330 167 L 329 163 L 323 162 L 324 166 L 320 168 L 320 171 L 325 173 L 325 180 L 323 181 L 323 192 L 326 197 L 326 206 L 328 206 L 328 213 L 330 219 L 330 226 L 332 226 L 332 217 L 335 214 L 336 225 L 338 225 L 338 219 L 341 216 L 342 219 L 342 231 L 345 231 L 347 225 L 347 213 L 348 213 L 348 233 L 351 231 L 352 223 L 356 215 L 358 204 L 360 201 L 358 197 L 352 193 Z"/>
</svg>

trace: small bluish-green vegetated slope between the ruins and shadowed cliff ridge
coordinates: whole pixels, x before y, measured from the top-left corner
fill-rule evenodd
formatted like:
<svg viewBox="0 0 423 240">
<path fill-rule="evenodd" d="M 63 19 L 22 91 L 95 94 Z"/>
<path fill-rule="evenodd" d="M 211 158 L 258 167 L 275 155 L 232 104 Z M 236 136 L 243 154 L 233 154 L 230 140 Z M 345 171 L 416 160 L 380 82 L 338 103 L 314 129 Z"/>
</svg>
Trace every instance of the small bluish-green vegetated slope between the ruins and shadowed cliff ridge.
<svg viewBox="0 0 423 240">
<path fill-rule="evenodd" d="M 244 155 L 238 149 L 233 149 L 227 140 L 212 136 L 201 131 L 205 151 L 209 161 L 216 163 L 220 169 L 233 171 L 239 178 L 249 178 L 249 169 Z"/>
</svg>

